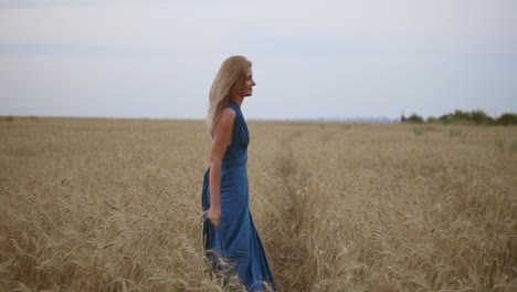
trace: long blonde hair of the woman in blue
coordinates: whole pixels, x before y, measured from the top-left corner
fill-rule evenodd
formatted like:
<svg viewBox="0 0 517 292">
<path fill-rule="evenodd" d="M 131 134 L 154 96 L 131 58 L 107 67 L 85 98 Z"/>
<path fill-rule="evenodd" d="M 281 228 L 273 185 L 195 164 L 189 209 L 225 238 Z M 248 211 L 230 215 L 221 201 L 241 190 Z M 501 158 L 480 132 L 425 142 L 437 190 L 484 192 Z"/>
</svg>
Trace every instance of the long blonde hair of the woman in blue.
<svg viewBox="0 0 517 292">
<path fill-rule="evenodd" d="M 243 92 L 246 73 L 251 65 L 252 62 L 242 55 L 232 55 L 222 63 L 210 88 L 210 105 L 207 117 L 210 133 L 213 132 L 213 126 L 222 109 L 230 104 L 235 95 Z"/>
</svg>

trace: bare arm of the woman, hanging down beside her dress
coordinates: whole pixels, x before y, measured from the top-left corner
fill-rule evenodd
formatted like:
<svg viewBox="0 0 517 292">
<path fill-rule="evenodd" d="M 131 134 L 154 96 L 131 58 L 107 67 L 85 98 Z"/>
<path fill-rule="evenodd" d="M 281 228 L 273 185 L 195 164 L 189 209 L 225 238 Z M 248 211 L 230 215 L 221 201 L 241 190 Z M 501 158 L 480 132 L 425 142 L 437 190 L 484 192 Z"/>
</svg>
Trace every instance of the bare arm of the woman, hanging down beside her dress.
<svg viewBox="0 0 517 292">
<path fill-rule="evenodd" d="M 221 112 L 213 126 L 212 150 L 210 155 L 210 209 L 207 217 L 217 228 L 221 219 L 221 165 L 228 146 L 232 142 L 235 113 L 231 108 Z"/>
</svg>

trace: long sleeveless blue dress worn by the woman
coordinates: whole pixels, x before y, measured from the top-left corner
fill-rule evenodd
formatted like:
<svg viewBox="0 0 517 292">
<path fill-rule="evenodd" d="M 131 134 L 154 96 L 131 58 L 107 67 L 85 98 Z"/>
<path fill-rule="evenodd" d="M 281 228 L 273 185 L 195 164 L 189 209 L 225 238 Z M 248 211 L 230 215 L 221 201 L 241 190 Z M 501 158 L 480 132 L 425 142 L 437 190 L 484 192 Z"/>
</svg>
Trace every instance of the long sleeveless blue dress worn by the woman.
<svg viewBox="0 0 517 292">
<path fill-rule="evenodd" d="M 217 229 L 204 217 L 203 246 L 208 259 L 226 277 L 238 274 L 249 291 L 265 291 L 264 282 L 276 290 L 261 238 L 250 212 L 247 188 L 247 144 L 250 134 L 239 106 L 235 112 L 233 137 L 221 166 L 221 219 Z M 201 205 L 210 208 L 210 167 L 204 173 Z M 224 261 L 221 261 L 223 259 Z"/>
</svg>

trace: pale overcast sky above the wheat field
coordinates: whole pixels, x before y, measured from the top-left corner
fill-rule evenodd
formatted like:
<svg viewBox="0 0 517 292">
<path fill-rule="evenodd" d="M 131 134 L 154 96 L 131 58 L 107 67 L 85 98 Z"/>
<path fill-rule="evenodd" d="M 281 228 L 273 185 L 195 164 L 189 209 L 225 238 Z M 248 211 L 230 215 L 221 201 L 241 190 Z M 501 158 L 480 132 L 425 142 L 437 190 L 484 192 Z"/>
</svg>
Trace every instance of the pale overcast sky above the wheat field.
<svg viewBox="0 0 517 292">
<path fill-rule="evenodd" d="M 0 0 L 0 115 L 203 118 L 233 54 L 249 118 L 517 112 L 515 0 Z"/>
</svg>

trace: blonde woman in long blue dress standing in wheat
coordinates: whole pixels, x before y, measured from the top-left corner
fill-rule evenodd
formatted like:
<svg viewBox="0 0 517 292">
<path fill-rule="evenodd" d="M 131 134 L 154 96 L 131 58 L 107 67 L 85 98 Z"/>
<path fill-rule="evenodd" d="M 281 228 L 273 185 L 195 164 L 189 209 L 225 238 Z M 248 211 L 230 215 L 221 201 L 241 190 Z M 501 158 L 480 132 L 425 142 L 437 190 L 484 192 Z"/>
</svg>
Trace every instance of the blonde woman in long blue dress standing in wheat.
<svg viewBox="0 0 517 292">
<path fill-rule="evenodd" d="M 207 257 L 226 280 L 236 274 L 249 291 L 274 291 L 270 264 L 250 212 L 250 136 L 241 105 L 253 94 L 253 86 L 252 63 L 234 55 L 222 63 L 210 90 L 212 147 L 202 191 L 203 244 Z"/>
</svg>

